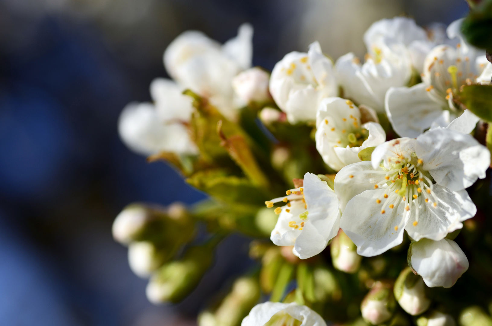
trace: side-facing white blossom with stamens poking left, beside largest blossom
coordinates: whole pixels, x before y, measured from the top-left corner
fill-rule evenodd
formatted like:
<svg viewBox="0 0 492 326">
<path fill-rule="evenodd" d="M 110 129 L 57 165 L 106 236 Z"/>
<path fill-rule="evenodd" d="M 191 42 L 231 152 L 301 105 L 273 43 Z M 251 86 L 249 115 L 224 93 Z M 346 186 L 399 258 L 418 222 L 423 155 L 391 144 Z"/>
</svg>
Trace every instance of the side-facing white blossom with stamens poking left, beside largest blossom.
<svg viewBox="0 0 492 326">
<path fill-rule="evenodd" d="M 287 193 L 287 196 L 266 202 L 268 207 L 275 202 L 290 201 L 277 207 L 280 215 L 270 239 L 277 246 L 294 246 L 294 254 L 301 259 L 313 257 L 322 252 L 338 233 L 340 210 L 337 196 L 325 181 L 312 173 L 304 175 L 303 187 Z"/>
</svg>

